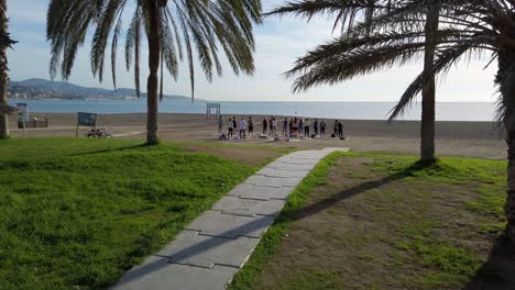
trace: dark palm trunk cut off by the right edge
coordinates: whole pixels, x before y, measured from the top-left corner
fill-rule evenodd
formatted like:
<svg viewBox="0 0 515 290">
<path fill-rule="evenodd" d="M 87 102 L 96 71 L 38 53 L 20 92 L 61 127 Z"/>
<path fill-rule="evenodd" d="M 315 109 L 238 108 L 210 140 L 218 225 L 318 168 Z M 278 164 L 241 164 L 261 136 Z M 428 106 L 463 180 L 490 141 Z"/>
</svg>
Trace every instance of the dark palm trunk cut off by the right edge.
<svg viewBox="0 0 515 290">
<path fill-rule="evenodd" d="M 515 53 L 498 54 L 498 72 L 496 82 L 500 85 L 504 109 L 515 114 L 515 88 L 513 86 L 513 72 L 515 71 Z M 504 79 L 511 77 L 508 80 Z M 507 225 L 506 233 L 515 245 L 515 127 L 506 124 L 506 143 L 508 146 L 507 158 L 507 198 L 504 205 Z"/>
</svg>

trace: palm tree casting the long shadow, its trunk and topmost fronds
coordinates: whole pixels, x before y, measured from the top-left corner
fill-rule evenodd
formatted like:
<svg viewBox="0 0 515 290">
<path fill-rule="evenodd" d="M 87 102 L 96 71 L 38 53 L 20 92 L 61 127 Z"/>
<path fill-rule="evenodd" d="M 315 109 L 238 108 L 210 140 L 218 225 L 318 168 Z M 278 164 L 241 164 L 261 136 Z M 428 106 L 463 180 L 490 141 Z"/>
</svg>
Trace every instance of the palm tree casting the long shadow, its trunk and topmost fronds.
<svg viewBox="0 0 515 290">
<path fill-rule="evenodd" d="M 371 22 L 374 21 L 374 15 L 381 15 L 405 3 L 406 1 L 404 0 L 299 0 L 278 7 L 267 13 L 267 15 L 295 14 L 310 20 L 317 14 L 333 14 L 336 16 L 333 29 L 340 24 L 343 36 L 357 37 L 359 35 L 363 36 L 373 33 Z M 430 74 L 430 71 L 432 70 L 431 68 L 435 62 L 435 35 L 438 31 L 441 0 L 423 0 L 418 1 L 418 5 L 420 8 L 410 7 L 410 9 L 414 10 L 427 7 L 428 10 L 425 23 L 427 38 L 424 55 L 424 70 L 429 72 L 426 74 L 426 80 L 421 91 L 420 159 L 434 161 L 436 80 L 435 75 Z M 354 24 L 357 24 L 360 19 L 363 19 L 363 21 L 358 25 L 360 26 L 358 30 Z M 393 119 L 395 119 L 395 116 L 393 116 L 391 121 Z"/>
</svg>

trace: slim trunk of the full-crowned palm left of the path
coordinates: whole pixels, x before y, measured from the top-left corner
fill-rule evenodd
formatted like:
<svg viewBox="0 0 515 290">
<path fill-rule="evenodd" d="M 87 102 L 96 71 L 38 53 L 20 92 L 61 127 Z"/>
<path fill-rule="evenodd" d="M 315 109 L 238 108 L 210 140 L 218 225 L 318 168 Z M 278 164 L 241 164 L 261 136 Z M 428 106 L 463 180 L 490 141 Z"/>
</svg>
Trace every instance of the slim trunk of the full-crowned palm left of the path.
<svg viewBox="0 0 515 290">
<path fill-rule="evenodd" d="M 160 8 L 158 1 L 147 0 L 149 4 L 149 69 L 150 75 L 146 82 L 146 144 L 158 143 L 157 138 L 157 71 L 160 69 Z"/>
</svg>

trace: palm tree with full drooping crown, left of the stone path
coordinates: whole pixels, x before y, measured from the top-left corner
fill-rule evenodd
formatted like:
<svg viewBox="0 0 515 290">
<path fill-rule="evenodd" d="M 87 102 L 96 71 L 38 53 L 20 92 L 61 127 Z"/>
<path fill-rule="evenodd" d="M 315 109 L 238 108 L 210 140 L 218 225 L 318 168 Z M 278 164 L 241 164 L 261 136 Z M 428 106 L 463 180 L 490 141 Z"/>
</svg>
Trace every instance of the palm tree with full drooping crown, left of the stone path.
<svg viewBox="0 0 515 290">
<path fill-rule="evenodd" d="M 51 77 L 61 72 L 67 79 L 77 49 L 95 27 L 91 42 L 91 69 L 99 80 L 103 77 L 106 54 L 110 53 L 113 86 L 117 87 L 116 57 L 122 30 L 122 14 L 128 0 L 51 0 L 47 12 L 47 38 L 52 44 Z M 140 57 L 143 32 L 149 43 L 146 82 L 146 143 L 157 143 L 157 103 L 163 70 L 176 78 L 178 62 L 188 62 L 191 98 L 194 98 L 194 51 L 210 81 L 213 70 L 221 76 L 218 57 L 220 46 L 235 74 L 254 71 L 252 29 L 261 22 L 261 0 L 136 0 L 125 37 L 125 66 L 134 66 L 136 93 L 140 96 Z M 108 43 L 110 40 L 110 51 Z M 161 78 L 160 78 L 161 67 Z"/>
</svg>

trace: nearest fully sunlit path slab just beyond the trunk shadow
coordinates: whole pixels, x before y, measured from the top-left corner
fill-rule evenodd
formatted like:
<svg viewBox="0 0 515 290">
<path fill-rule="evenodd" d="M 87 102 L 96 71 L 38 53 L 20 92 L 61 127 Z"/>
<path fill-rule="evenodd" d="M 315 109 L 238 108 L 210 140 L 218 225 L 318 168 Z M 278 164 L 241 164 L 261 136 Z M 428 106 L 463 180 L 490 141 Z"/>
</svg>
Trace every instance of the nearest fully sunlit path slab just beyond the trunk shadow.
<svg viewBox="0 0 515 290">
<path fill-rule="evenodd" d="M 233 215 L 273 215 L 277 216 L 286 203 L 285 200 L 256 200 L 224 196 L 212 207 L 213 211 Z"/>
</svg>

